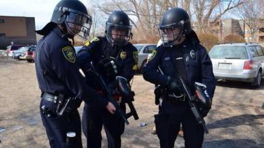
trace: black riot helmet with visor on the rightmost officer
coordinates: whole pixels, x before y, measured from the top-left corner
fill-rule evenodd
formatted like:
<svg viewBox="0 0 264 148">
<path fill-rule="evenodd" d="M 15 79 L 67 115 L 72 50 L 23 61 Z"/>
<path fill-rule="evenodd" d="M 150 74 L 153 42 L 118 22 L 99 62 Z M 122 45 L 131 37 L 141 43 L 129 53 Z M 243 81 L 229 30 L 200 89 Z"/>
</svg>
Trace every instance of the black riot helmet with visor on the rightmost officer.
<svg viewBox="0 0 264 148">
<path fill-rule="evenodd" d="M 172 46 L 179 42 L 183 35 L 192 31 L 187 12 L 181 8 L 172 8 L 165 12 L 159 24 L 159 35 L 163 46 Z"/>
</svg>

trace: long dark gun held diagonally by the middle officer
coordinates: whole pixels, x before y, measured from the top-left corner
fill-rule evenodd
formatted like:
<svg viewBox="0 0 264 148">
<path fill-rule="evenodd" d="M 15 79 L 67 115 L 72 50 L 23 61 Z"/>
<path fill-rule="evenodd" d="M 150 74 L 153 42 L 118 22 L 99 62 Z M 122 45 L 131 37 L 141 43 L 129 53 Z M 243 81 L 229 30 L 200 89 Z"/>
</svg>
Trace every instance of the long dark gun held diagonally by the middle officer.
<svg viewBox="0 0 264 148">
<path fill-rule="evenodd" d="M 114 104 L 114 106 L 116 107 L 116 113 L 118 113 L 122 117 L 124 122 L 127 125 L 129 125 L 129 121 L 127 121 L 126 115 L 124 114 L 123 110 L 120 108 L 118 102 L 116 102 L 116 100 L 114 100 L 114 98 L 111 96 L 110 90 L 108 89 L 107 85 L 105 84 L 105 81 L 103 80 L 102 76 L 100 74 L 98 74 L 97 70 L 94 68 L 94 63 L 92 61 L 91 61 L 91 68 L 92 68 L 94 74 L 99 79 L 101 87 L 102 87 L 104 93 L 107 95 L 107 98 L 109 99 L 109 102 Z"/>
</svg>

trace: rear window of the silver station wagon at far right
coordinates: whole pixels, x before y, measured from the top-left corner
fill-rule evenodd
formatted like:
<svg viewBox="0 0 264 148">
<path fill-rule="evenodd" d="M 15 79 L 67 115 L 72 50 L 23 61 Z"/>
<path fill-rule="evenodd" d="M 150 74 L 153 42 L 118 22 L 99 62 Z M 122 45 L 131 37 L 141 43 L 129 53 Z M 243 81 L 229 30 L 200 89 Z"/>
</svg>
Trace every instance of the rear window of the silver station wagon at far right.
<svg viewBox="0 0 264 148">
<path fill-rule="evenodd" d="M 245 46 L 214 46 L 209 55 L 211 59 L 248 59 Z"/>
</svg>

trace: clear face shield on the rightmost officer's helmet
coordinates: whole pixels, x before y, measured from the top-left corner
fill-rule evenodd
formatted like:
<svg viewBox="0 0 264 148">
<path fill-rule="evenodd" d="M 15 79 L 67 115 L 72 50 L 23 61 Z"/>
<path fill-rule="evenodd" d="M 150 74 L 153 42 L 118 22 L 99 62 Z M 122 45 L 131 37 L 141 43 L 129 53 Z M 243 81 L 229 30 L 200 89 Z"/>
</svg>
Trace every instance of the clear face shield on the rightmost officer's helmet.
<svg viewBox="0 0 264 148">
<path fill-rule="evenodd" d="M 159 26 L 159 36 L 163 42 L 163 46 L 172 46 L 177 41 L 181 40 L 183 35 L 182 23 L 172 25 Z"/>
</svg>

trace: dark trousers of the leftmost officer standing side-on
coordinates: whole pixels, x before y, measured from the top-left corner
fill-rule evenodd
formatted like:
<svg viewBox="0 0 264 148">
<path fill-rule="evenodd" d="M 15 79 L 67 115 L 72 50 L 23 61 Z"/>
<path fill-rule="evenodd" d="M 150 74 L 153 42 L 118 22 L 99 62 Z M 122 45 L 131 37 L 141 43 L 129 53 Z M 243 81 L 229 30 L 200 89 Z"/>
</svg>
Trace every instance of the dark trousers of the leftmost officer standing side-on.
<svg viewBox="0 0 264 148">
<path fill-rule="evenodd" d="M 42 106 L 49 108 L 49 113 L 42 113 Z M 81 119 L 78 110 L 72 111 L 70 115 L 58 116 L 56 115 L 57 105 L 53 102 L 41 100 L 40 102 L 40 116 L 42 123 L 46 129 L 47 136 L 49 138 L 49 145 L 51 148 L 68 148 L 66 145 L 66 133 L 75 132 L 75 146 L 82 148 L 81 143 Z M 49 117 L 48 117 L 49 115 Z"/>
</svg>

